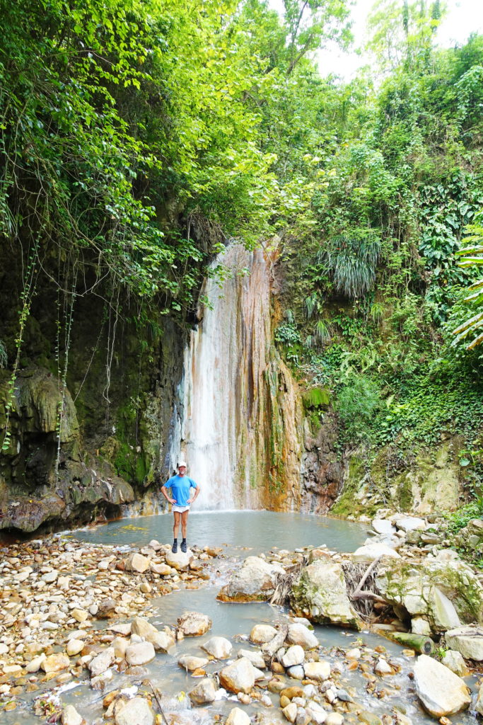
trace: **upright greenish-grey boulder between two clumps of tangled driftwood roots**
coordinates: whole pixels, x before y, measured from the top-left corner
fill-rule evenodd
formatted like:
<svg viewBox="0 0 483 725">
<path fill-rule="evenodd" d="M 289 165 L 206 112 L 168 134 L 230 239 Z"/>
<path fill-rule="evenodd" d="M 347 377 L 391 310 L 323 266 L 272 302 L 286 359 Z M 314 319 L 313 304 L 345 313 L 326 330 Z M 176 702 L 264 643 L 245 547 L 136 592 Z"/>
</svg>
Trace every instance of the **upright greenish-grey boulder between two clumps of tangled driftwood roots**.
<svg viewBox="0 0 483 725">
<path fill-rule="evenodd" d="M 301 571 L 290 593 L 295 613 L 319 624 L 337 624 L 361 629 L 361 620 L 350 606 L 343 569 L 322 560 Z"/>
</svg>

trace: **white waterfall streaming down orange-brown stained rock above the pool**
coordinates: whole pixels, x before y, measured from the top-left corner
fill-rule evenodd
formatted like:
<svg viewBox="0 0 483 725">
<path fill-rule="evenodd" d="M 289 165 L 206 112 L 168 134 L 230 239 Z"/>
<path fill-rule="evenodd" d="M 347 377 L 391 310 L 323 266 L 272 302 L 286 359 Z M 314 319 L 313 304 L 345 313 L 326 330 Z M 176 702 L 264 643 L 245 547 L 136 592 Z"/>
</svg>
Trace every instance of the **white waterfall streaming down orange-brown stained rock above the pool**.
<svg viewBox="0 0 483 725">
<path fill-rule="evenodd" d="M 181 442 L 188 475 L 202 486 L 197 508 L 296 505 L 300 415 L 272 344 L 272 263 L 261 249 L 231 244 L 214 262 L 230 276 L 222 286 L 206 281 L 211 308 L 185 352 Z"/>
</svg>

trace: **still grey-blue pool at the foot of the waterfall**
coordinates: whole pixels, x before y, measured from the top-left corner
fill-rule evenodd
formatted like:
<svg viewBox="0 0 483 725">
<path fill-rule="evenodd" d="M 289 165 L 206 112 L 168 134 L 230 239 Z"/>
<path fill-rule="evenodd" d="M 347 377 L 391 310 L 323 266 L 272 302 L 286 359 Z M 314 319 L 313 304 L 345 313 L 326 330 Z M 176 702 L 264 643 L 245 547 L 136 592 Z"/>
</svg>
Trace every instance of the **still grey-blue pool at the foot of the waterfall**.
<svg viewBox="0 0 483 725">
<path fill-rule="evenodd" d="M 73 536 L 102 544 L 147 544 L 151 539 L 172 541 L 170 514 L 120 519 L 80 529 Z M 227 551 L 247 547 L 258 554 L 276 546 L 294 550 L 309 544 L 327 544 L 337 551 L 354 551 L 367 537 L 367 526 L 328 516 L 272 511 L 202 511 L 190 513 L 188 544 L 224 546 Z"/>
</svg>

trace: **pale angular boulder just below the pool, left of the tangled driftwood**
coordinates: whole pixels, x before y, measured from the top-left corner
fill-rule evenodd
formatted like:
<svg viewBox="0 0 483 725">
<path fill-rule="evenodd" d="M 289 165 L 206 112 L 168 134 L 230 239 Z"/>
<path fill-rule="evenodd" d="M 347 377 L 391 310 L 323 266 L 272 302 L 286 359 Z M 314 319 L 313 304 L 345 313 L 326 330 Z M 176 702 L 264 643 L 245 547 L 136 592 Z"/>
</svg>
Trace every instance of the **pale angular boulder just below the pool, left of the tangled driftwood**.
<svg viewBox="0 0 483 725">
<path fill-rule="evenodd" d="M 232 573 L 217 599 L 223 602 L 266 602 L 274 593 L 277 576 L 285 573 L 280 564 L 269 564 L 258 556 L 249 556 Z"/>
</svg>

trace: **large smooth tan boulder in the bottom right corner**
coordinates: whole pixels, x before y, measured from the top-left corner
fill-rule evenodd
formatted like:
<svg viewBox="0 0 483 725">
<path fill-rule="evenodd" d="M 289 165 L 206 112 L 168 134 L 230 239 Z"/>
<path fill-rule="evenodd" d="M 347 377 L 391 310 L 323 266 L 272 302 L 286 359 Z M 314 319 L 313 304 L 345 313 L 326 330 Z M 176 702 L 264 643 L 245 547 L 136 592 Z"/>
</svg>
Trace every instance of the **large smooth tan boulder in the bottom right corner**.
<svg viewBox="0 0 483 725">
<path fill-rule="evenodd" d="M 459 713 L 471 703 L 461 677 L 427 655 L 420 655 L 414 666 L 414 684 L 416 695 L 434 718 Z"/>
</svg>

